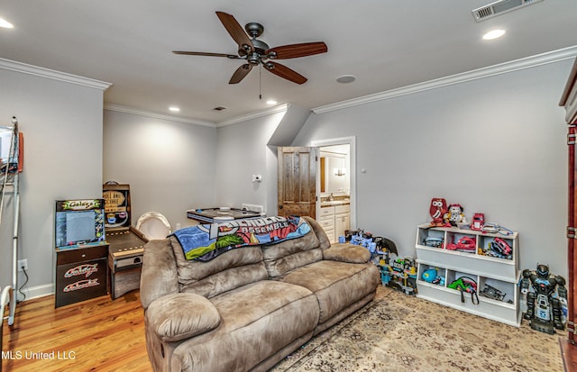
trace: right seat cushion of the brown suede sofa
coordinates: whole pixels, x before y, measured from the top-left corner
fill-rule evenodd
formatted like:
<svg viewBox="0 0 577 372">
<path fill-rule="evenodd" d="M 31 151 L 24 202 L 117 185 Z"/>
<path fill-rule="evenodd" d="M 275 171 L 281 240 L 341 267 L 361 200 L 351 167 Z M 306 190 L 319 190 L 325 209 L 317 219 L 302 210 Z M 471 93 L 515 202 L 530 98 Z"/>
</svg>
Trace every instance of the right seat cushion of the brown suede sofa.
<svg viewBox="0 0 577 372">
<path fill-rule="evenodd" d="M 279 280 L 311 290 L 320 307 L 319 323 L 374 292 L 380 283 L 379 269 L 371 264 L 321 260 L 296 268 Z"/>
</svg>

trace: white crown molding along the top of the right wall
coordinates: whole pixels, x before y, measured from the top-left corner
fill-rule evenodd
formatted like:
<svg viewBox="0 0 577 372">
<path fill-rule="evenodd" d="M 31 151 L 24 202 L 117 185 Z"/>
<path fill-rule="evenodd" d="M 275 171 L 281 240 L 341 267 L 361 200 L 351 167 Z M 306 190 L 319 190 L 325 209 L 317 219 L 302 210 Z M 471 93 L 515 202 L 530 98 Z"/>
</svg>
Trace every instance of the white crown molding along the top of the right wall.
<svg viewBox="0 0 577 372">
<path fill-rule="evenodd" d="M 401 95 L 412 95 L 418 92 L 435 89 L 443 86 L 452 86 L 461 84 L 467 81 L 472 81 L 484 77 L 492 77 L 495 75 L 506 74 L 508 72 L 517 71 L 525 68 L 534 68 L 537 66 L 546 65 L 548 63 L 558 62 L 564 59 L 572 59 L 577 56 L 577 45 L 561 50 L 554 50 L 542 54 L 537 54 L 532 57 L 524 59 L 516 59 L 498 65 L 490 66 L 488 68 L 478 68 L 462 74 L 451 75 L 449 77 L 441 77 L 434 80 L 429 80 L 423 83 L 414 84 L 412 86 L 403 86 L 397 89 L 387 90 L 385 92 L 375 93 L 373 95 L 364 95 L 362 97 L 349 99 L 334 104 L 325 104 L 323 106 L 311 109 L 313 113 L 328 113 L 331 111 L 341 110 L 347 107 L 353 107 L 360 104 L 370 104 L 372 102 L 382 101 L 390 98 L 395 98 Z"/>
</svg>

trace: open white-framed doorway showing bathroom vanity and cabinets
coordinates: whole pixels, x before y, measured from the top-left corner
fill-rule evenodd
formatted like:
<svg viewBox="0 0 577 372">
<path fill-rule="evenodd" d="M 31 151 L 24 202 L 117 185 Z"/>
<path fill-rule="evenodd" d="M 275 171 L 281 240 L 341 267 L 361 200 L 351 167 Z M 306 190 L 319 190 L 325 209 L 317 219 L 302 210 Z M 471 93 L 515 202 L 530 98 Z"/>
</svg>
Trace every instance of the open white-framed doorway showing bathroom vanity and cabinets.
<svg viewBox="0 0 577 372">
<path fill-rule="evenodd" d="M 356 226 L 354 137 L 312 141 L 316 170 L 316 220 L 331 242 Z"/>
</svg>

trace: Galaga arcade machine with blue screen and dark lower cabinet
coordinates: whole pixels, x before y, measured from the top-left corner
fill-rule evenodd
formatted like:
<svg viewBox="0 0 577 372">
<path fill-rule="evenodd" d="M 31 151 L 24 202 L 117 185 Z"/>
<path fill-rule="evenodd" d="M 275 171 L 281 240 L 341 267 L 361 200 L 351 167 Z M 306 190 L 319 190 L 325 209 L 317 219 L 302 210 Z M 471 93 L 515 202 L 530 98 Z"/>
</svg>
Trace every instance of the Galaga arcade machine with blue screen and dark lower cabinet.
<svg viewBox="0 0 577 372">
<path fill-rule="evenodd" d="M 104 199 L 56 201 L 55 307 L 108 293 L 104 205 Z"/>
</svg>

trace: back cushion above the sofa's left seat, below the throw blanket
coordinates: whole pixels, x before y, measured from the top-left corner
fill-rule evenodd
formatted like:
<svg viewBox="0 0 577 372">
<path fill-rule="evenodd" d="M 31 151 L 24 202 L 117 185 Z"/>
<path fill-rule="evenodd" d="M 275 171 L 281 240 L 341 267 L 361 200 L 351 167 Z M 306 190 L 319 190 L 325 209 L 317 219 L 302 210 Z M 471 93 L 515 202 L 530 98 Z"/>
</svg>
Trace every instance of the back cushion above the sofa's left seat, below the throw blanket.
<svg viewBox="0 0 577 372">
<path fill-rule="evenodd" d="M 260 246 L 229 250 L 208 262 L 185 259 L 179 240 L 170 237 L 181 292 L 207 298 L 268 278 Z"/>
</svg>

